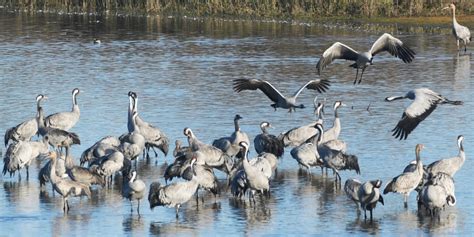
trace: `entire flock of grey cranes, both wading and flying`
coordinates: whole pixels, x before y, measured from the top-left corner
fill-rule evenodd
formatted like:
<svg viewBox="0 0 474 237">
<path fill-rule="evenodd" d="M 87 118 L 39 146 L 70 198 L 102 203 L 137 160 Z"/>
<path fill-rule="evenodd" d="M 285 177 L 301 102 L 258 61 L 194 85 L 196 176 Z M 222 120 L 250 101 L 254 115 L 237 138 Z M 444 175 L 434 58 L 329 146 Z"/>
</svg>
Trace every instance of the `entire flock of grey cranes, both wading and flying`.
<svg viewBox="0 0 474 237">
<path fill-rule="evenodd" d="M 453 32 L 456 36 L 458 49 L 459 42 L 466 45 L 470 42 L 469 30 L 459 25 L 455 19 L 455 6 L 450 4 L 446 9 L 453 12 Z M 354 61 L 351 67 L 357 69 L 354 84 L 360 83 L 362 75 L 368 65 L 371 65 L 375 55 L 387 51 L 391 55 L 400 58 L 405 63 L 414 60 L 415 52 L 401 40 L 390 34 L 383 34 L 372 45 L 371 49 L 359 53 L 349 46 L 336 42 L 320 57 L 316 68 L 317 73 L 336 59 Z M 361 69 L 361 75 L 359 74 Z M 229 86 L 230 87 L 230 86 Z M 285 97 L 270 82 L 260 79 L 236 79 L 233 81 L 235 92 L 246 90 L 262 91 L 274 104 L 271 106 L 288 109 L 289 112 L 296 108 L 303 109 L 303 104 L 297 104 L 296 98 L 305 89 L 316 90 L 319 93 L 329 89 L 327 79 L 316 79 L 306 82 L 291 97 Z M 80 158 L 80 166 L 74 165 L 70 149 L 73 145 L 80 144 L 79 135 L 70 132 L 80 119 L 80 110 L 77 100 L 80 90 L 72 90 L 71 111 L 59 112 L 44 117 L 41 102 L 47 99 L 46 95 L 36 97 L 36 116 L 26 120 L 5 131 L 5 146 L 8 147 L 4 154 L 3 175 L 10 176 L 21 172 L 25 168 L 27 179 L 29 178 L 28 167 L 32 160 L 38 157 L 47 157 L 49 162 L 39 172 L 41 186 L 47 182 L 55 192 L 63 198 L 63 210 L 67 213 L 70 209 L 68 199 L 76 196 L 91 197 L 91 186 L 99 185 L 103 188 L 111 186 L 113 176 L 122 176 L 122 195 L 132 201 L 138 202 L 137 212 L 140 215 L 140 201 L 146 197 L 146 184 L 139 177 L 139 170 L 134 168 L 132 161 L 137 161 L 140 154 L 149 159 L 149 151 L 153 150 L 158 156 L 155 148 L 159 149 L 164 156 L 168 154 L 169 138 L 158 127 L 145 122 L 138 114 L 138 96 L 136 92 L 128 94 L 128 132 L 121 136 L 106 136 L 94 145 L 86 149 Z M 390 96 L 386 101 L 408 98 L 413 100 L 392 130 L 393 136 L 400 140 L 407 139 L 408 135 L 419 125 L 421 121 L 430 115 L 439 104 L 462 105 L 462 101 L 452 101 L 427 88 L 418 88 L 408 91 L 404 96 Z M 260 128 L 262 133 L 255 136 L 253 145 L 257 157 L 249 159 L 251 149 L 249 135 L 242 131 L 239 120 L 240 115 L 234 117 L 234 132 L 230 136 L 216 139 L 212 145 L 200 141 L 191 128 L 183 130 L 188 140 L 188 146 L 183 147 L 180 140 L 176 140 L 176 148 L 173 152 L 175 160 L 168 166 L 164 178 L 166 184 L 159 181 L 150 184 L 148 189 L 148 201 L 150 208 L 156 206 L 174 207 L 176 217 L 179 216 L 179 208 L 188 202 L 193 195 L 198 200 L 200 189 L 217 195 L 224 191 L 220 190 L 220 180 L 214 171 L 218 170 L 227 176 L 228 186 L 234 198 L 245 201 L 248 195 L 249 202 L 256 205 L 256 196 L 261 198 L 269 196 L 271 192 L 271 180 L 278 167 L 278 160 L 283 156 L 286 147 L 292 147 L 291 156 L 301 168 L 305 168 L 311 175 L 310 169 L 321 167 L 332 169 L 335 174 L 335 182 L 341 183 L 340 171 L 354 170 L 360 174 L 363 165 L 359 165 L 356 155 L 348 154 L 348 144 L 339 138 L 341 133 L 341 119 L 338 109 L 345 104 L 336 101 L 333 106 L 335 117 L 333 126 L 324 130 L 322 112 L 324 103 L 314 103 L 315 121 L 298 125 L 294 129 L 281 133 L 279 136 L 269 134 L 271 128 L 269 121 L 262 121 Z M 33 136 L 42 138 L 34 141 Z M 383 194 L 390 192 L 404 195 L 404 206 L 408 206 L 408 196 L 411 192 L 418 192 L 418 204 L 420 212 L 423 207 L 431 216 L 435 216 L 446 206 L 456 204 L 454 194 L 454 174 L 462 167 L 465 161 L 463 148 L 464 137 L 458 136 L 457 156 L 440 159 L 430 165 L 423 165 L 420 152 L 423 144 L 415 148 L 416 162 L 409 164 L 400 175 L 388 181 L 383 189 Z M 52 149 L 50 148 L 52 147 Z M 63 154 L 65 149 L 65 154 Z M 86 165 L 87 164 L 87 165 Z M 19 178 L 21 176 L 19 175 Z M 176 178 L 176 180 L 173 180 Z M 173 181 L 168 184 L 168 181 Z M 372 212 L 377 202 L 382 204 L 384 199 L 382 192 L 382 180 L 373 179 L 361 182 L 357 179 L 347 179 L 344 191 L 353 200 L 358 210 L 362 208 L 367 219 L 366 211 L 370 212 L 370 220 L 373 219 Z M 132 205 L 133 211 L 133 205 Z"/>
</svg>

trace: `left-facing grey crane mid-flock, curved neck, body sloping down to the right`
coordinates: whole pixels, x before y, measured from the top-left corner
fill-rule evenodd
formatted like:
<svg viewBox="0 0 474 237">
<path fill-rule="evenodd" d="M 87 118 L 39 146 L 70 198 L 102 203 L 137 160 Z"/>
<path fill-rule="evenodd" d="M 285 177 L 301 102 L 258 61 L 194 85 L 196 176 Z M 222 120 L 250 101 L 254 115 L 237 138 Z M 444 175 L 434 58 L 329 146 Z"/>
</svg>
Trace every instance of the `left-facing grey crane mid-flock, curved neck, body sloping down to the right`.
<svg viewBox="0 0 474 237">
<path fill-rule="evenodd" d="M 226 174 L 229 173 L 233 164 L 230 156 L 217 147 L 199 141 L 190 128 L 184 129 L 184 135 L 188 137 L 189 147 L 192 151 L 203 153 L 204 158 L 199 159 L 199 163 L 219 169 Z"/>
</svg>

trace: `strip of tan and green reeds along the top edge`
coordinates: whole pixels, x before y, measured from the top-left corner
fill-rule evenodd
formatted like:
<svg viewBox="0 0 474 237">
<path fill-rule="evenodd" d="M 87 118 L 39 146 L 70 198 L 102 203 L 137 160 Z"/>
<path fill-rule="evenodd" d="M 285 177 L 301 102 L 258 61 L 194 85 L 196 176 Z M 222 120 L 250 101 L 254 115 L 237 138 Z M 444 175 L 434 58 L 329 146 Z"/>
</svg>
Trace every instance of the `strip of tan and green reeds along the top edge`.
<svg viewBox="0 0 474 237">
<path fill-rule="evenodd" d="M 446 0 L 0 0 L 9 9 L 53 12 L 171 14 L 280 18 L 442 16 Z M 473 15 L 474 1 L 457 1 L 459 15 Z"/>
</svg>

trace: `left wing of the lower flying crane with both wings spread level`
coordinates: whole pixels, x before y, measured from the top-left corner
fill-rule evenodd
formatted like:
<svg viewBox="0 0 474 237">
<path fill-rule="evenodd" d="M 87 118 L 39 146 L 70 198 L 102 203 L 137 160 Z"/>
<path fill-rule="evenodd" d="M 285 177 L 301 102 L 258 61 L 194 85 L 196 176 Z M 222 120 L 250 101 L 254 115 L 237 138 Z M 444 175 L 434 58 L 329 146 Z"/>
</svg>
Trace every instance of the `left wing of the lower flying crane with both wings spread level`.
<svg viewBox="0 0 474 237">
<path fill-rule="evenodd" d="M 241 92 L 243 90 L 261 90 L 273 102 L 284 100 L 285 97 L 270 84 L 268 81 L 258 79 L 235 79 L 234 91 Z"/>
</svg>

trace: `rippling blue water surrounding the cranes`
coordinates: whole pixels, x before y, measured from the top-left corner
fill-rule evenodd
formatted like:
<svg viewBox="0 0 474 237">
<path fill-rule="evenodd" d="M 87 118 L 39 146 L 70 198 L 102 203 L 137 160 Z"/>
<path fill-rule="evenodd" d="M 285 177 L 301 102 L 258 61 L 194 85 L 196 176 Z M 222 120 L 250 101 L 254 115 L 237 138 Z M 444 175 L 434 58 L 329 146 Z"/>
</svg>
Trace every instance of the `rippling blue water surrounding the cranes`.
<svg viewBox="0 0 474 237">
<path fill-rule="evenodd" d="M 472 27 L 471 27 L 472 28 Z M 70 93 L 81 89 L 81 119 L 72 129 L 82 145 L 72 149 L 78 157 L 106 135 L 127 131 L 127 93 L 136 91 L 139 112 L 162 128 L 172 141 L 185 140 L 190 127 L 205 142 L 228 136 L 233 117 L 242 115 L 242 129 L 251 139 L 261 121 L 271 122 L 278 134 L 313 119 L 312 108 L 289 114 L 276 112 L 260 92 L 232 91 L 236 78 L 259 78 L 274 83 L 284 94 L 316 76 L 319 55 L 335 41 L 366 50 L 381 35 L 378 30 L 351 30 L 272 22 L 213 21 L 176 18 L 126 18 L 76 15 L 25 16 L 0 14 L 0 131 L 35 115 L 35 97 L 48 95 L 47 114 L 71 108 Z M 255 207 L 235 201 L 223 191 L 204 204 L 189 202 L 175 219 L 174 209 L 151 211 L 142 201 L 141 217 L 130 213 L 120 186 L 95 187 L 93 196 L 71 198 L 71 211 L 63 215 L 61 198 L 50 186 L 40 191 L 37 171 L 44 161 L 33 162 L 30 179 L 0 177 L 0 230 L 2 234 L 31 235 L 466 235 L 474 226 L 470 171 L 474 140 L 473 80 L 470 55 L 457 55 L 449 30 L 441 33 L 392 32 L 411 46 L 417 57 L 405 65 L 387 54 L 377 56 L 360 85 L 352 85 L 355 71 L 348 62 L 336 62 L 323 71 L 331 80 L 326 98 L 326 126 L 332 124 L 330 105 L 342 100 L 341 139 L 359 157 L 362 174 L 342 172 L 342 180 L 381 179 L 384 184 L 414 160 L 414 147 L 423 143 L 423 162 L 457 155 L 456 137 L 465 136 L 467 160 L 456 174 L 457 205 L 447 208 L 441 220 L 418 216 L 412 193 L 409 208 L 397 194 L 384 196 L 385 206 L 374 211 L 374 222 L 358 218 L 355 206 L 334 178 L 313 170 L 312 179 L 298 171 L 286 149 L 278 174 L 271 182 L 271 198 Z M 94 38 L 102 41 L 92 43 Z M 471 46 L 472 48 L 472 46 Z M 391 136 L 409 101 L 384 102 L 391 95 L 428 87 L 463 106 L 439 106 L 406 141 Z M 317 93 L 304 91 L 301 103 L 312 106 Z M 369 110 L 367 107 L 370 105 Z M 3 136 L 2 136 L 3 138 Z M 0 143 L 3 144 L 3 139 Z M 173 149 L 174 147 L 171 147 Z M 5 152 L 5 149 L 2 149 Z M 255 156 L 252 149 L 251 156 Z M 138 173 L 147 186 L 161 181 L 172 157 L 150 164 L 140 160 Z M 218 173 L 222 183 L 224 175 Z M 120 182 L 119 182 L 120 183 Z M 136 203 L 134 203 L 136 205 Z M 136 208 L 136 206 L 135 206 Z"/>
</svg>

